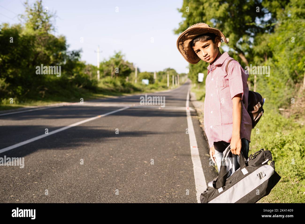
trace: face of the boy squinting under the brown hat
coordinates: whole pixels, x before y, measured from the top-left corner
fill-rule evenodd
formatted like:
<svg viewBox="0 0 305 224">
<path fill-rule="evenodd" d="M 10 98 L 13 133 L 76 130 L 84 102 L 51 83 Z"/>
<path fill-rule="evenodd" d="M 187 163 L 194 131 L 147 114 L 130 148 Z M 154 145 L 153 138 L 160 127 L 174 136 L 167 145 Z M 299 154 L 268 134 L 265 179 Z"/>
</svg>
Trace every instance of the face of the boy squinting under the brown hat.
<svg viewBox="0 0 305 224">
<path fill-rule="evenodd" d="M 215 43 L 213 43 L 212 40 L 206 42 L 197 41 L 193 47 L 193 50 L 201 60 L 211 63 L 216 59 L 220 45 L 221 41 L 219 37 L 216 37 Z"/>
</svg>

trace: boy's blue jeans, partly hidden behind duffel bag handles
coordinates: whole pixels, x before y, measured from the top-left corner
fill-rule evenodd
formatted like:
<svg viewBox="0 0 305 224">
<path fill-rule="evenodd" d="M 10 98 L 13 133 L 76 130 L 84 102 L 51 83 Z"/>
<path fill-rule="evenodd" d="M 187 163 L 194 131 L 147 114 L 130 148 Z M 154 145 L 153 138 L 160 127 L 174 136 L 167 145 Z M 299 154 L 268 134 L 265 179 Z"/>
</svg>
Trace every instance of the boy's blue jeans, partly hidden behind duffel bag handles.
<svg viewBox="0 0 305 224">
<path fill-rule="evenodd" d="M 248 159 L 249 156 L 249 140 L 246 138 L 242 138 L 242 155 L 244 155 L 245 159 Z M 226 165 L 226 163 L 223 160 L 224 154 L 223 151 L 228 147 L 230 143 L 224 142 L 224 141 L 218 141 L 214 142 L 214 148 L 215 148 L 215 158 L 216 158 L 216 163 L 217 163 L 217 169 L 218 173 L 220 171 L 220 166 L 221 165 Z M 232 154 L 232 158 L 230 158 L 232 162 L 232 169 L 230 173 L 228 174 L 228 177 L 231 176 L 237 169 L 239 169 L 239 157 L 238 155 Z M 227 167 L 229 168 L 229 167 Z M 229 169 L 228 169 L 229 170 Z"/>
</svg>

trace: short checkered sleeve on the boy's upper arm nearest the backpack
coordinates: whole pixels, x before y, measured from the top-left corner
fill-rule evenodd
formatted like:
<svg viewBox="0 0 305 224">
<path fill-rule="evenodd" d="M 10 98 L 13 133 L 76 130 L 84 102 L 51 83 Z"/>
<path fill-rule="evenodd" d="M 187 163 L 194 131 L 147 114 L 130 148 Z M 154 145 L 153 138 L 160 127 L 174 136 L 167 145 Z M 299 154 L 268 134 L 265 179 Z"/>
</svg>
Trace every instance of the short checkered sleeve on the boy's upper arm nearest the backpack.
<svg viewBox="0 0 305 224">
<path fill-rule="evenodd" d="M 242 83 L 242 66 L 238 61 L 231 61 L 228 65 L 228 80 L 231 93 L 231 99 L 237 95 L 244 96 L 243 83 Z"/>
</svg>

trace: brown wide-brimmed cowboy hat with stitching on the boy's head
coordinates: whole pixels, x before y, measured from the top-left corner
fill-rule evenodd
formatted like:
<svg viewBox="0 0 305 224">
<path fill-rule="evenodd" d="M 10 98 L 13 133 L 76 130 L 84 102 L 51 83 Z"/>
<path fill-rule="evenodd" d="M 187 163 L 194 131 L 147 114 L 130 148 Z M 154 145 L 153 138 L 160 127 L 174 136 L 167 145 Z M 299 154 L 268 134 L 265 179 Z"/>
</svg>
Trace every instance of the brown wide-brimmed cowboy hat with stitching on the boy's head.
<svg viewBox="0 0 305 224">
<path fill-rule="evenodd" d="M 228 44 L 229 42 L 229 38 L 226 38 L 220 30 L 210 27 L 206 23 L 196 23 L 188 27 L 177 39 L 177 48 L 187 62 L 197 64 L 200 61 L 200 58 L 191 46 L 191 42 L 196 37 L 205 33 L 216 34 L 225 43 Z"/>
</svg>

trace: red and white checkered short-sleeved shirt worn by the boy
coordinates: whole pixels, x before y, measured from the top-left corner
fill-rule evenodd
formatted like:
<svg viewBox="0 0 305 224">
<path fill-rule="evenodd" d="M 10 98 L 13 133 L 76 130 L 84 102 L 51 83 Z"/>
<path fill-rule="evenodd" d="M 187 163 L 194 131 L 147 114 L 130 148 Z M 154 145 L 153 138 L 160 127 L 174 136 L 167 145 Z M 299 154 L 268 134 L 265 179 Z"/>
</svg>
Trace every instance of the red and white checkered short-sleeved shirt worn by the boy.
<svg viewBox="0 0 305 224">
<path fill-rule="evenodd" d="M 233 125 L 232 98 L 242 93 L 242 121 L 240 138 L 250 141 L 252 121 L 246 110 L 248 108 L 248 75 L 239 64 L 233 60 L 229 63 L 228 74 L 226 65 L 232 59 L 228 52 L 223 53 L 213 63 L 207 66 L 206 96 L 204 100 L 204 131 L 210 147 L 214 142 L 231 142 Z"/>
</svg>

